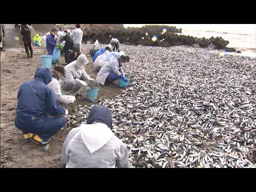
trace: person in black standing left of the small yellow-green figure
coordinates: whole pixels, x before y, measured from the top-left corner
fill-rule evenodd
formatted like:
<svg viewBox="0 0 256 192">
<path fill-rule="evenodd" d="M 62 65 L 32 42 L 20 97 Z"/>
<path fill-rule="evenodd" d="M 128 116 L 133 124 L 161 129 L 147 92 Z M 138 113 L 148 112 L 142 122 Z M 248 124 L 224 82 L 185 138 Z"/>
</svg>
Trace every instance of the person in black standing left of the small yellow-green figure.
<svg viewBox="0 0 256 192">
<path fill-rule="evenodd" d="M 21 24 L 21 32 L 20 34 L 22 35 L 22 41 L 27 53 L 27 58 L 33 58 L 33 49 L 31 46 L 31 24 Z M 30 54 L 29 54 L 29 51 Z"/>
</svg>

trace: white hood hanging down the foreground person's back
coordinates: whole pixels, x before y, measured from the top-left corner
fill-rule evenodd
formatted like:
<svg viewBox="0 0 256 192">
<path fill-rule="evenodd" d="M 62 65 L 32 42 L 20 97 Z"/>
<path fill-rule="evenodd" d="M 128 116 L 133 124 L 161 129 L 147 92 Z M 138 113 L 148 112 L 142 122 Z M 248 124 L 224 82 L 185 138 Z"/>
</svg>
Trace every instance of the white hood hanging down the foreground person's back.
<svg viewBox="0 0 256 192">
<path fill-rule="evenodd" d="M 82 140 L 90 153 L 99 150 L 114 136 L 109 127 L 103 123 L 81 124 L 79 129 Z"/>
</svg>

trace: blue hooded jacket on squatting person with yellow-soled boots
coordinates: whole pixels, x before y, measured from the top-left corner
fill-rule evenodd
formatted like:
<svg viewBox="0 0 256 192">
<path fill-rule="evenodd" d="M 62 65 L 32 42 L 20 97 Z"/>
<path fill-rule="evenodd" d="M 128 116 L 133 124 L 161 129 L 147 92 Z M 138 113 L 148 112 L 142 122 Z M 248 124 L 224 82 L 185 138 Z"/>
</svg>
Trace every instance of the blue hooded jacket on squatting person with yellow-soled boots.
<svg viewBox="0 0 256 192">
<path fill-rule="evenodd" d="M 46 67 L 36 69 L 34 81 L 25 82 L 18 92 L 15 126 L 30 132 L 39 129 L 46 122 L 46 115 L 65 114 L 66 109 L 56 100 L 47 84 L 52 81 L 52 71 Z"/>
</svg>

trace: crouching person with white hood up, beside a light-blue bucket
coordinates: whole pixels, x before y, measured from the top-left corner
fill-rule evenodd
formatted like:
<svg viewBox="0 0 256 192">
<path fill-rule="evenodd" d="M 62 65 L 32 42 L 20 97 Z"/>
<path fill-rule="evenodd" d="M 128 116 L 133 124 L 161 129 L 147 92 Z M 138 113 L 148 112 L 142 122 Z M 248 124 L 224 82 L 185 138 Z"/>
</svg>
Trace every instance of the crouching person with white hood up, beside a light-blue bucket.
<svg viewBox="0 0 256 192">
<path fill-rule="evenodd" d="M 83 86 L 87 86 L 84 81 L 95 81 L 84 70 L 88 63 L 89 61 L 85 54 L 81 54 L 76 61 L 69 63 L 65 67 L 65 77 L 63 76 L 59 80 L 63 91 L 70 91 L 69 95 L 76 96 Z"/>
</svg>

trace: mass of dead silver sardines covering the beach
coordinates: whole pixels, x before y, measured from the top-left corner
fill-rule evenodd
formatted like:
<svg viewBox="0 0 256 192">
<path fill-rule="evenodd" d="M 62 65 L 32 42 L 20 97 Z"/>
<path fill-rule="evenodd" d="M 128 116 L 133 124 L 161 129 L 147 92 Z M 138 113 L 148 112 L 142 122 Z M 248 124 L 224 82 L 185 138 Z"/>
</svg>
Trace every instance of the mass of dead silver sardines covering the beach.
<svg viewBox="0 0 256 192">
<path fill-rule="evenodd" d="M 134 167 L 256 167 L 255 58 L 188 46 L 121 50 L 131 84 L 98 104 L 111 110 Z"/>
</svg>

